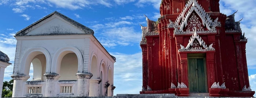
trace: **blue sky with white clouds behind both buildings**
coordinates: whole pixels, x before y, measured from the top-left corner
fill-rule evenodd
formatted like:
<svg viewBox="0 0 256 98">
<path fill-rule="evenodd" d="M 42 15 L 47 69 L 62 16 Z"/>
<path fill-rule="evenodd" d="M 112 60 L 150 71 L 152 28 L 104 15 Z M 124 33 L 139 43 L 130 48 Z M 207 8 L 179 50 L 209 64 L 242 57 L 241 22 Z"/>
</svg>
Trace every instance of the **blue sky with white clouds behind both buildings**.
<svg viewBox="0 0 256 98">
<path fill-rule="evenodd" d="M 114 95 L 138 94 L 142 86 L 141 27 L 143 14 L 159 18 L 161 0 L 0 0 L 0 50 L 10 57 L 4 80 L 12 75 L 15 33 L 44 16 L 58 11 L 94 30 L 101 44 L 116 57 Z M 252 90 L 256 90 L 256 0 L 220 0 L 220 12 L 241 21 L 248 38 L 246 56 Z"/>
</svg>

